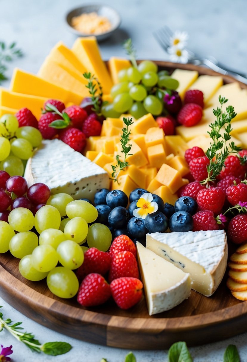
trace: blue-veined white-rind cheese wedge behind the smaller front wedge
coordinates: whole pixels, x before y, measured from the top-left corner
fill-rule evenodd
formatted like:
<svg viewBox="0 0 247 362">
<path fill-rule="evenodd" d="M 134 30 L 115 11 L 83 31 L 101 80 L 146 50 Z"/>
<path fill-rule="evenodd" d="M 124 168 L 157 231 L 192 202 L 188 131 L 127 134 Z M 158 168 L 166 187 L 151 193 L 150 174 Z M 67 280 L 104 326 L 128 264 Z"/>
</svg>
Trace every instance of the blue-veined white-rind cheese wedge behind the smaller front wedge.
<svg viewBox="0 0 247 362">
<path fill-rule="evenodd" d="M 185 273 L 191 274 L 192 289 L 212 295 L 226 271 L 227 239 L 224 230 L 151 233 L 146 247 Z"/>
</svg>

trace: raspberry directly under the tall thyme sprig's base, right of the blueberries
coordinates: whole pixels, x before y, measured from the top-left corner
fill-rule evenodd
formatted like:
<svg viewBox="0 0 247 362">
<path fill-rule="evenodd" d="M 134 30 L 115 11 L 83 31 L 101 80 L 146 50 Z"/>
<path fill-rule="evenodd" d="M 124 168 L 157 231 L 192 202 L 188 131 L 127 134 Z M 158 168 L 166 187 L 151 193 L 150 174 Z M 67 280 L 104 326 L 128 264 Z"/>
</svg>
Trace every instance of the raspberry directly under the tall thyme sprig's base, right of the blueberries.
<svg viewBox="0 0 247 362">
<path fill-rule="evenodd" d="M 211 210 L 218 214 L 224 205 L 225 193 L 219 187 L 210 186 L 198 192 L 196 202 L 201 210 Z"/>
</svg>

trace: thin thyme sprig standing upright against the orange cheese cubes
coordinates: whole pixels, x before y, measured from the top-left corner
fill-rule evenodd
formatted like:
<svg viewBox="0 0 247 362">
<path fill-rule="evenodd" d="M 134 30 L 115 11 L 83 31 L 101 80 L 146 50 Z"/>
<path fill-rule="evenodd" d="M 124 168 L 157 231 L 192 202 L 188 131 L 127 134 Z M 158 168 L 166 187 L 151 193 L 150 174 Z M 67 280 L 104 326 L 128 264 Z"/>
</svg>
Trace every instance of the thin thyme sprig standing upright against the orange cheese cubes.
<svg viewBox="0 0 247 362">
<path fill-rule="evenodd" d="M 129 127 L 133 125 L 134 122 L 132 122 L 132 118 L 125 118 L 123 117 L 123 123 L 126 125 L 126 127 L 123 127 L 122 135 L 121 135 L 121 146 L 122 146 L 122 153 L 124 153 L 123 161 L 120 160 L 120 156 L 116 156 L 117 164 L 115 166 L 112 165 L 112 178 L 110 180 L 114 180 L 114 182 L 118 182 L 117 178 L 121 170 L 124 170 L 125 167 L 129 166 L 129 163 L 126 161 L 127 156 L 131 156 L 130 150 L 131 150 L 131 144 L 130 142 L 130 130 Z"/>
</svg>

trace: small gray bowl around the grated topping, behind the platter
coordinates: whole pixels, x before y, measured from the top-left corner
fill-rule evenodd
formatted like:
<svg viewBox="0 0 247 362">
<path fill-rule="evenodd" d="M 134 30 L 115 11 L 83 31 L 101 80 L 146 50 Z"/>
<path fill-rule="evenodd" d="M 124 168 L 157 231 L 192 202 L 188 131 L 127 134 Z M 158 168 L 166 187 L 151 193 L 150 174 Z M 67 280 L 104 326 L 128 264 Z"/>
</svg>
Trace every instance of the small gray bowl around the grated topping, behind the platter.
<svg viewBox="0 0 247 362">
<path fill-rule="evenodd" d="M 79 16 L 83 13 L 92 13 L 92 12 L 96 12 L 101 16 L 107 17 L 110 23 L 112 24 L 112 28 L 106 33 L 102 34 L 84 34 L 73 28 L 73 26 L 71 25 L 71 20 L 74 16 Z M 106 38 L 108 38 L 120 26 L 120 23 L 121 23 L 121 18 L 119 14 L 116 12 L 116 10 L 107 5 L 100 5 L 100 4 L 84 5 L 79 8 L 71 10 L 66 15 L 66 24 L 68 25 L 68 28 L 70 29 L 70 31 L 72 31 L 72 33 L 79 35 L 81 37 L 89 37 L 94 35 L 97 38 L 97 41 L 105 40 Z"/>
</svg>

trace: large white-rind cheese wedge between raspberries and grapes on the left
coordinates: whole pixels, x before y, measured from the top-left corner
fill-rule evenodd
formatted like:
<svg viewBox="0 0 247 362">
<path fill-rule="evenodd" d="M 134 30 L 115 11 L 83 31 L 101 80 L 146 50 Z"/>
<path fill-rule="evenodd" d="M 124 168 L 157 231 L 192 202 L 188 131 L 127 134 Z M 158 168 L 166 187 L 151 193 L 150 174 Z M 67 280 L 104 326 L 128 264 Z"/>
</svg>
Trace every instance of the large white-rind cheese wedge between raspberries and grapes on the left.
<svg viewBox="0 0 247 362">
<path fill-rule="evenodd" d="M 74 199 L 88 198 L 109 188 L 108 173 L 59 139 L 43 140 L 27 164 L 28 186 L 43 182 L 52 194 L 65 192 Z"/>
</svg>

